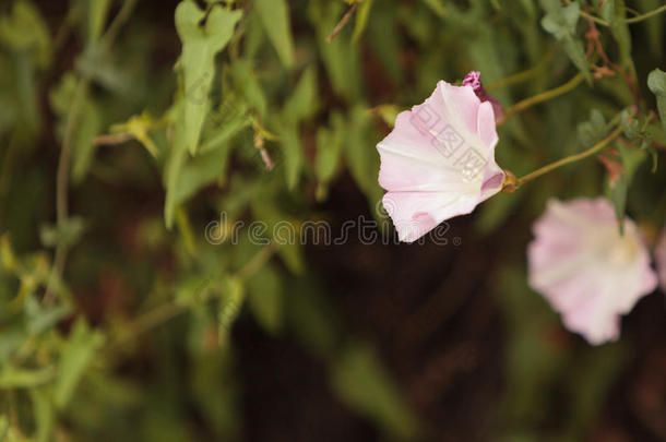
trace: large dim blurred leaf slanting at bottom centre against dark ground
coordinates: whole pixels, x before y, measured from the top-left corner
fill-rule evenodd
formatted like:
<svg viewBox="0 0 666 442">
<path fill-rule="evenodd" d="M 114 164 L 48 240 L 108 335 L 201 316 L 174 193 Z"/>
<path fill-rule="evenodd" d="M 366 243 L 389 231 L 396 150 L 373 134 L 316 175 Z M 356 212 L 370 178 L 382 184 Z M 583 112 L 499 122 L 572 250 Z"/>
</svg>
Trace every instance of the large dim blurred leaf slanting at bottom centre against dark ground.
<svg viewBox="0 0 666 442">
<path fill-rule="evenodd" d="M 381 361 L 367 346 L 348 347 L 333 362 L 331 382 L 347 406 L 372 419 L 386 434 L 413 439 L 418 423 Z"/>
</svg>

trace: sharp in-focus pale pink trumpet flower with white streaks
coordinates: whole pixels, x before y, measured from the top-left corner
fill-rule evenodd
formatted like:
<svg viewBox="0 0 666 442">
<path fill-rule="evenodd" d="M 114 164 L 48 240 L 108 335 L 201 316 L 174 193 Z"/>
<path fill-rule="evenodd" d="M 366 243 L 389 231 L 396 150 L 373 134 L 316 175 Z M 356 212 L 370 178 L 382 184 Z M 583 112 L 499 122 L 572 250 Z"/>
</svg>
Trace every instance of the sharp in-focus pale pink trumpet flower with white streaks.
<svg viewBox="0 0 666 442">
<path fill-rule="evenodd" d="M 432 95 L 401 112 L 378 145 L 382 202 L 401 241 L 413 242 L 444 219 L 471 213 L 499 192 L 492 105 L 472 86 L 440 81 Z"/>
</svg>

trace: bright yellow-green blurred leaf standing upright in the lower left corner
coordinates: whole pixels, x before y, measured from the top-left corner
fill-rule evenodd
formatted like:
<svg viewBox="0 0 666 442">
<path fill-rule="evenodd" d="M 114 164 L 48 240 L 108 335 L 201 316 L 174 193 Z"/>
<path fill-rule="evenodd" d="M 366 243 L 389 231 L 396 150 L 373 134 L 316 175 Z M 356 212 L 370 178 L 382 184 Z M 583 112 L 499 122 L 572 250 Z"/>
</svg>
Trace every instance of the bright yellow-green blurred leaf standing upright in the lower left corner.
<svg viewBox="0 0 666 442">
<path fill-rule="evenodd" d="M 104 335 L 100 332 L 92 331 L 83 319 L 76 321 L 62 348 L 53 387 L 53 399 L 59 409 L 69 404 L 83 373 L 103 344 Z"/>
</svg>

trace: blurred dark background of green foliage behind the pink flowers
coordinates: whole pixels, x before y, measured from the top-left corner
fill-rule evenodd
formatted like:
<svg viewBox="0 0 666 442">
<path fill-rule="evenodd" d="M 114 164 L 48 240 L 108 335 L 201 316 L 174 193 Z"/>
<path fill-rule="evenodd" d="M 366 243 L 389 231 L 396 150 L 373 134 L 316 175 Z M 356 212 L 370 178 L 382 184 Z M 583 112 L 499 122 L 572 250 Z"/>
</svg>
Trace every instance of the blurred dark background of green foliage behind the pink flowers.
<svg viewBox="0 0 666 442">
<path fill-rule="evenodd" d="M 437 243 L 273 237 L 392 235 L 374 146 L 438 80 L 506 109 L 587 80 L 498 128 L 518 176 L 656 109 L 666 14 L 626 20 L 661 1 L 179 3 L 0 3 L 0 440 L 666 441 L 664 294 L 592 347 L 526 284 L 548 198 L 607 192 L 595 158 Z M 623 195 L 654 240 L 652 169 Z"/>
</svg>

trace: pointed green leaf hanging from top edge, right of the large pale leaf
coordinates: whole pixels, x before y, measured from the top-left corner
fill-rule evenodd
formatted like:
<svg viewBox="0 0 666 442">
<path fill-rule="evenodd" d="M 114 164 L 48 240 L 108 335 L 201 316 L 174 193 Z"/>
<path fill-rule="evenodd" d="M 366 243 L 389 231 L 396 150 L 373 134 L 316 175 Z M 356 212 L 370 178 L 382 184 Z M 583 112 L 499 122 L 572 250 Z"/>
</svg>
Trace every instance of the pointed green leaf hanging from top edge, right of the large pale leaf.
<svg viewBox="0 0 666 442">
<path fill-rule="evenodd" d="M 292 68 L 294 65 L 294 37 L 286 0 L 254 0 L 254 8 L 269 39 L 277 50 L 280 60 L 285 68 Z"/>
</svg>

